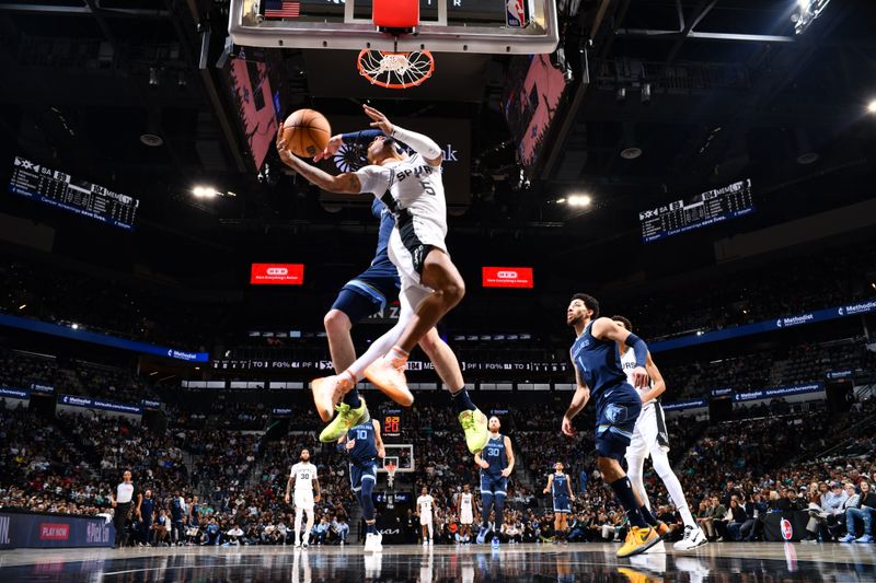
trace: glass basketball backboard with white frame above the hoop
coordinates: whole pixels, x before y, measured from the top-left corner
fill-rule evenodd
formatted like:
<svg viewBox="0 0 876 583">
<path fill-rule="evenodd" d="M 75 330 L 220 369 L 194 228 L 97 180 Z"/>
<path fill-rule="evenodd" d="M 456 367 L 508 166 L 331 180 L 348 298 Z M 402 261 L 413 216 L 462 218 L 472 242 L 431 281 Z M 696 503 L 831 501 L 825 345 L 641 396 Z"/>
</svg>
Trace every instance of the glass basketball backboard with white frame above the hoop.
<svg viewBox="0 0 876 583">
<path fill-rule="evenodd" d="M 483 54 L 553 53 L 554 0 L 420 0 L 413 34 L 393 36 L 372 22 L 371 0 L 231 0 L 238 45 Z M 516 14 L 526 14 L 526 22 Z"/>
</svg>

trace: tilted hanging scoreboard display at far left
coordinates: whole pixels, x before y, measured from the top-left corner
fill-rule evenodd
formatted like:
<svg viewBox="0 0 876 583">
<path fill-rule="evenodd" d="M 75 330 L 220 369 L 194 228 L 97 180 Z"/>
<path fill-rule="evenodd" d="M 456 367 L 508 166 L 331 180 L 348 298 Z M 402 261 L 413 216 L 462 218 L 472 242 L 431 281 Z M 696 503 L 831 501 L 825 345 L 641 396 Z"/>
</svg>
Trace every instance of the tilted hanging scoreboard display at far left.
<svg viewBox="0 0 876 583">
<path fill-rule="evenodd" d="M 134 229 L 140 201 L 15 156 L 9 190 L 122 229 Z"/>
</svg>

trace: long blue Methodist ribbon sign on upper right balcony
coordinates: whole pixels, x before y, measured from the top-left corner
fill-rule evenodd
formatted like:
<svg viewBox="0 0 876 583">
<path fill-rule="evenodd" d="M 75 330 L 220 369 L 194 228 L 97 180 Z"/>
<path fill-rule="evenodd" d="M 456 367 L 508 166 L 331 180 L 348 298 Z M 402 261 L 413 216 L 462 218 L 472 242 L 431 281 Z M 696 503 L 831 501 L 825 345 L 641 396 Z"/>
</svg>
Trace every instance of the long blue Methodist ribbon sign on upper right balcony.
<svg viewBox="0 0 876 583">
<path fill-rule="evenodd" d="M 752 334 L 793 328 L 806 324 L 815 324 L 817 322 L 829 322 L 831 319 L 856 316 L 858 314 L 867 314 L 869 312 L 876 312 L 876 300 L 828 307 L 825 310 L 816 310 L 815 312 L 807 312 L 805 314 L 797 314 L 794 316 L 782 316 L 775 319 L 747 324 L 745 326 L 736 326 L 735 328 L 725 328 L 723 330 L 702 333 L 699 335 L 682 336 L 681 338 L 672 338 L 671 340 L 658 340 L 656 342 L 648 342 L 648 350 L 652 352 L 673 350 L 676 348 L 704 345 L 707 342 L 716 342 L 718 340 L 728 340 L 730 338 L 740 338 L 742 336 L 750 336 Z"/>
</svg>

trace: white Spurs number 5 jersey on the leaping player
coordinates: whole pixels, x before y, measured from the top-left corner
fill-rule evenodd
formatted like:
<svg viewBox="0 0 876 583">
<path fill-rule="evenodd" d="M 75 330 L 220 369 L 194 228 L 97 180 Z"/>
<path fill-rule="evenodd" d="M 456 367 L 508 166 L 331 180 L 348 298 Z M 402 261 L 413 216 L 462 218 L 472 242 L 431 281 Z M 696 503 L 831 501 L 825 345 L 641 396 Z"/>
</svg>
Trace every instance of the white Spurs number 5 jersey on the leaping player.
<svg viewBox="0 0 876 583">
<path fill-rule="evenodd" d="M 360 191 L 383 200 L 395 214 L 400 230 L 413 223 L 423 243 L 447 252 L 447 202 L 440 166 L 430 165 L 415 153 L 400 162 L 365 166 L 356 175 Z"/>
</svg>

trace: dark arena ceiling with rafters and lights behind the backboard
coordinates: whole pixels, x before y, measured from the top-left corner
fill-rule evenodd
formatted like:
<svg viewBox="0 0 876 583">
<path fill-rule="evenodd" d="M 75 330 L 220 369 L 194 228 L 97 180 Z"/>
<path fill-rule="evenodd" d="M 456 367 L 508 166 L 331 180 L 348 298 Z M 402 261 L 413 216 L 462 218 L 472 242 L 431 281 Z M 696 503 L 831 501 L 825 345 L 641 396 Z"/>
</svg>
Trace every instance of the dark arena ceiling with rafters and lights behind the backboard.
<svg viewBox="0 0 876 583">
<path fill-rule="evenodd" d="M 638 210 L 738 177 L 756 176 L 774 191 L 810 176 L 855 180 L 871 172 L 876 119 L 865 107 L 876 97 L 876 5 L 834 0 L 799 35 L 796 7 L 796 0 L 562 4 L 561 46 L 574 81 L 553 147 L 529 180 L 507 145 L 500 113 L 508 57 L 448 58 L 446 77 L 413 100 L 403 93 L 378 100 L 371 88 L 347 82 L 359 82 L 351 63 L 349 71 L 326 72 L 319 51 L 270 50 L 267 59 L 287 109 L 350 113 L 371 97 L 399 115 L 470 120 L 475 165 L 461 229 L 550 232 L 581 214 L 555 200 L 587 191 L 596 201 L 588 212 L 604 220 L 567 234 L 599 240 L 634 232 Z M 4 159 L 56 160 L 103 179 L 150 201 L 143 221 L 164 228 L 178 221 L 192 232 L 261 235 L 368 221 L 360 211 L 326 212 L 279 172 L 256 177 L 217 68 L 227 11 L 219 0 L 0 4 Z M 143 133 L 163 144 L 143 145 Z M 641 155 L 621 156 L 630 148 Z M 816 160 L 799 163 L 807 153 Z M 192 185 L 204 180 L 238 196 L 211 207 L 192 201 Z"/>
</svg>

